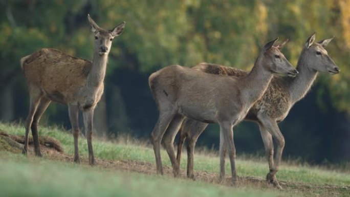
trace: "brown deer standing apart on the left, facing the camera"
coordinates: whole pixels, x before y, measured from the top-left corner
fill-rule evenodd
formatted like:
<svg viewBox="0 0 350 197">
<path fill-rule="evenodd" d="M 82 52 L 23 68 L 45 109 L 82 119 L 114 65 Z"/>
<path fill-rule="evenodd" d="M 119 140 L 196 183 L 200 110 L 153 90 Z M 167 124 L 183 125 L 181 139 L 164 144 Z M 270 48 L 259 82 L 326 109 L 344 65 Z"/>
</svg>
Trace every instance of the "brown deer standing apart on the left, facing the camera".
<svg viewBox="0 0 350 197">
<path fill-rule="evenodd" d="M 29 129 L 32 131 L 35 155 L 41 157 L 38 123 L 51 101 L 67 104 L 74 137 L 74 162 L 80 163 L 78 150 L 79 110 L 83 114 L 88 141 L 89 164 L 95 164 L 92 132 L 94 109 L 103 94 L 108 53 L 112 40 L 119 36 L 125 22 L 112 30 L 100 28 L 88 14 L 94 32 L 94 55 L 92 62 L 61 52 L 43 48 L 20 59 L 29 89 L 30 106 L 26 119 L 26 135 L 23 154 L 28 154 Z"/>
</svg>

